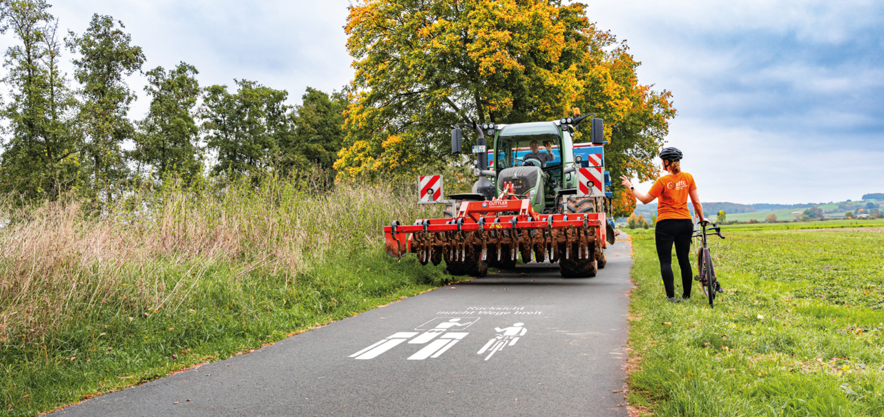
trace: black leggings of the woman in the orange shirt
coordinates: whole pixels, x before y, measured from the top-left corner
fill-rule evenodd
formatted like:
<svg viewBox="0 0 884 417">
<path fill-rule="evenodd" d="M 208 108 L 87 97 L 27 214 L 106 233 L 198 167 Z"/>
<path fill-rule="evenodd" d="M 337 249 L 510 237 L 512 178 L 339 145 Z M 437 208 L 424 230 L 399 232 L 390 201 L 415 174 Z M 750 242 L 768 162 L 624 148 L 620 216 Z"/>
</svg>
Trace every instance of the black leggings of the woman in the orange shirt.
<svg viewBox="0 0 884 417">
<path fill-rule="evenodd" d="M 675 278 L 672 273 L 672 244 L 675 244 L 675 255 L 678 256 L 678 267 L 682 269 L 682 297 L 690 297 L 690 284 L 693 271 L 690 269 L 690 236 L 694 233 L 694 224 L 690 219 L 666 219 L 657 222 L 654 237 L 657 239 L 657 257 L 660 259 L 660 273 L 666 296 L 675 296 Z"/>
</svg>

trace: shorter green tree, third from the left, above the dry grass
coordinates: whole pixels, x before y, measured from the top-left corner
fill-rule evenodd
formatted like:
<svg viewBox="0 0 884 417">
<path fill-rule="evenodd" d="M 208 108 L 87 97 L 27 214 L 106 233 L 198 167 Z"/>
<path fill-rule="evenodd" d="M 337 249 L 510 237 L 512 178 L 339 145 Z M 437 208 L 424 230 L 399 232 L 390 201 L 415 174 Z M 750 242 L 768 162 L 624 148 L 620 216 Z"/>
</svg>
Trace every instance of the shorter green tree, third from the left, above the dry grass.
<svg viewBox="0 0 884 417">
<path fill-rule="evenodd" d="M 193 65 L 180 63 L 166 72 L 158 66 L 147 72 L 151 97 L 147 118 L 138 123 L 133 158 L 153 167 L 156 178 L 178 173 L 192 178 L 202 171 L 199 126 L 194 119 L 202 94 Z"/>
</svg>

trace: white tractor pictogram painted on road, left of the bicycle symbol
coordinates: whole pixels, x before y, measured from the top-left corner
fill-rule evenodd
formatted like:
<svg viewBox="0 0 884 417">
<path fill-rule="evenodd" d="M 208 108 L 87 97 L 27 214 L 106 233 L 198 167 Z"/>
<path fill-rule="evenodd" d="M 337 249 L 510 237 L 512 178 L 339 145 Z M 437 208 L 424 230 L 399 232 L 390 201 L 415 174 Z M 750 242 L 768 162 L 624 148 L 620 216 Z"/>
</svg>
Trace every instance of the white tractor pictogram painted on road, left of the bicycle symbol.
<svg viewBox="0 0 884 417">
<path fill-rule="evenodd" d="M 438 358 L 439 355 L 445 353 L 448 349 L 451 349 L 453 345 L 456 345 L 463 337 L 466 337 L 469 334 L 448 330 L 463 330 L 478 320 L 478 317 L 436 317 L 415 329 L 425 330 L 418 337 L 415 337 L 415 335 L 418 334 L 416 331 L 400 331 L 399 333 L 386 337 L 384 340 L 350 355 L 350 357 L 359 360 L 374 359 L 381 353 L 385 353 L 409 338 L 415 337 L 408 341 L 408 344 L 423 345 L 431 340 L 432 342 L 429 345 L 423 346 L 423 349 L 408 357 L 409 360 Z"/>
</svg>

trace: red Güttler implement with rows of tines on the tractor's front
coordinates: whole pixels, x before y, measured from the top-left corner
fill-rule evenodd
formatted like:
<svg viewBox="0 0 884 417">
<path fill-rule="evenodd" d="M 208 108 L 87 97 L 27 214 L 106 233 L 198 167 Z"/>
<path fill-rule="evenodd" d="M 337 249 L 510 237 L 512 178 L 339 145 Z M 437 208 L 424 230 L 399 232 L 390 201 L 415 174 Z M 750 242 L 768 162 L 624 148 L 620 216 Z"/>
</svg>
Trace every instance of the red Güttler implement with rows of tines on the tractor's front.
<svg viewBox="0 0 884 417">
<path fill-rule="evenodd" d="M 510 195 L 463 201 L 453 218 L 392 222 L 384 228 L 386 252 L 415 254 L 423 265 L 446 262 L 452 275 L 484 277 L 488 267 L 559 262 L 562 277 L 595 277 L 606 246 L 605 213 L 538 214 L 530 201 Z"/>
</svg>

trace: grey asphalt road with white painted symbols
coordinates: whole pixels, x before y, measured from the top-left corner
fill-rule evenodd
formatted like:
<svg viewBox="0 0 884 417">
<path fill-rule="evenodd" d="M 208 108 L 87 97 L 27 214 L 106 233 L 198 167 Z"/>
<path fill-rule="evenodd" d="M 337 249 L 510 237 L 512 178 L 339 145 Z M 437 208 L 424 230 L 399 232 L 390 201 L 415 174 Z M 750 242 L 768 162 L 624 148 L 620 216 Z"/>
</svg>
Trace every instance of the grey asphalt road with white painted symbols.
<svg viewBox="0 0 884 417">
<path fill-rule="evenodd" d="M 628 415 L 629 242 L 594 278 L 529 264 L 56 414 Z"/>
</svg>

